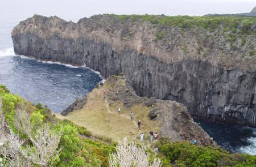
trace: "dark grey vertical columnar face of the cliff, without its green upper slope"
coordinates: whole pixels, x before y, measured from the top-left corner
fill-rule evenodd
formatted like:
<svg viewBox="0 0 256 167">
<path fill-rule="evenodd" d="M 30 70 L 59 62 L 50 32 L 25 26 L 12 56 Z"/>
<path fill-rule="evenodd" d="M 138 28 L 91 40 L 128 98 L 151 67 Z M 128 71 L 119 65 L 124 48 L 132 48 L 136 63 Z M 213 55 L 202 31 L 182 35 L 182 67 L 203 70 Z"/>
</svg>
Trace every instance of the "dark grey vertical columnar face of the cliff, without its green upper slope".
<svg viewBox="0 0 256 167">
<path fill-rule="evenodd" d="M 210 121 L 256 126 L 254 68 L 226 68 L 221 63 L 215 65 L 214 57 L 195 58 L 192 54 L 168 62 L 161 58 L 166 52 L 160 46 L 149 52 L 142 49 L 147 45 L 137 49 L 128 45 L 129 42 L 122 42 L 124 46 L 118 48 L 118 44 L 113 42 L 117 37 L 112 37 L 110 32 L 109 35 L 101 29 L 88 30 L 95 20 L 75 24 L 53 19 L 55 24 L 51 30 L 47 30 L 47 26 L 51 25 L 48 18 L 42 17 L 40 22 L 33 19 L 21 22 L 14 28 L 12 36 L 16 54 L 86 65 L 101 72 L 104 77 L 124 72 L 139 96 L 181 102 L 191 115 Z M 87 30 L 85 24 L 89 26 Z M 138 39 L 134 41 L 138 42 Z M 216 44 L 217 41 L 210 43 Z M 256 68 L 254 57 L 253 53 L 248 66 Z"/>
</svg>

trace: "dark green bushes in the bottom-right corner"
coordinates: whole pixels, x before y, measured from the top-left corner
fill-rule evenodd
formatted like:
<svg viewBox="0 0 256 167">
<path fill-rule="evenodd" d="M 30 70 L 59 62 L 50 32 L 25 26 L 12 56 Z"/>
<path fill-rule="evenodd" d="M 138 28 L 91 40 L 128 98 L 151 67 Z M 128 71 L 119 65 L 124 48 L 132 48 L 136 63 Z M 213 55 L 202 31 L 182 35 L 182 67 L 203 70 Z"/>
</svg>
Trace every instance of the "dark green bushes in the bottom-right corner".
<svg viewBox="0 0 256 167">
<path fill-rule="evenodd" d="M 174 142 L 162 140 L 158 144 L 159 151 L 175 166 L 255 166 L 256 156 L 246 154 L 230 154 L 221 148 L 201 147 L 190 142 Z"/>
</svg>

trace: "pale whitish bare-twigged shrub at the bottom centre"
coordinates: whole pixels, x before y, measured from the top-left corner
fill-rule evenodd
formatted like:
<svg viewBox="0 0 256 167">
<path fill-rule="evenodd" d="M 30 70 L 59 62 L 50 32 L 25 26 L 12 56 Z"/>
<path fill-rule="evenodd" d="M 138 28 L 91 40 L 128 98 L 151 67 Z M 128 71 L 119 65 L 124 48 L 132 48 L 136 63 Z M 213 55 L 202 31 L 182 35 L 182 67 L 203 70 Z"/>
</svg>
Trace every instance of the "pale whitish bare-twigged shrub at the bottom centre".
<svg viewBox="0 0 256 167">
<path fill-rule="evenodd" d="M 116 147 L 117 153 L 110 155 L 110 167 L 160 167 L 160 159 L 154 159 L 149 162 L 149 154 L 146 152 L 146 146 L 137 147 L 136 143 L 128 142 L 125 138 L 123 142 L 118 142 Z"/>
</svg>

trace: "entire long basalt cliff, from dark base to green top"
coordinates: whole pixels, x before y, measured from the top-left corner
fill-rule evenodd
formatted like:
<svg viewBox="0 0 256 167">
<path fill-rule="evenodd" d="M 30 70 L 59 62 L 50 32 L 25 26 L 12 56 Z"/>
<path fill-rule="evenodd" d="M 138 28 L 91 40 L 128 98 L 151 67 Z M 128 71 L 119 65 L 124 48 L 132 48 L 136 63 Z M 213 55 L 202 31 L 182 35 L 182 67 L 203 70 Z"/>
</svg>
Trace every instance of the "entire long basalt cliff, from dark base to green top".
<svg viewBox="0 0 256 167">
<path fill-rule="evenodd" d="M 256 126 L 256 18 L 35 15 L 12 37 L 16 54 L 124 72 L 139 96 L 174 100 L 193 117 Z"/>
</svg>

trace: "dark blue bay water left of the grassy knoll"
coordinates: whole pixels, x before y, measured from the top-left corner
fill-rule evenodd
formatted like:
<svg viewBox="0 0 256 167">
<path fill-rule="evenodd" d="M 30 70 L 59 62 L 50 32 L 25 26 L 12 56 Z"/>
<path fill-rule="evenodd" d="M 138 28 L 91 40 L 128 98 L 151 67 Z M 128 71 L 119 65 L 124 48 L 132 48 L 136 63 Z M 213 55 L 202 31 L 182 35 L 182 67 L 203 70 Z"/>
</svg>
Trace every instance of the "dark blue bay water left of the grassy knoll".
<svg viewBox="0 0 256 167">
<path fill-rule="evenodd" d="M 10 49 L 1 53 L 3 50 L 0 50 L 0 84 L 28 101 L 47 105 L 56 113 L 92 91 L 102 80 L 90 68 L 37 61 L 14 55 Z"/>
</svg>

